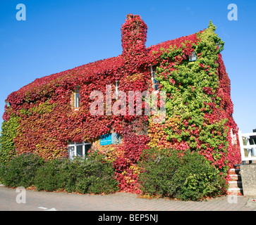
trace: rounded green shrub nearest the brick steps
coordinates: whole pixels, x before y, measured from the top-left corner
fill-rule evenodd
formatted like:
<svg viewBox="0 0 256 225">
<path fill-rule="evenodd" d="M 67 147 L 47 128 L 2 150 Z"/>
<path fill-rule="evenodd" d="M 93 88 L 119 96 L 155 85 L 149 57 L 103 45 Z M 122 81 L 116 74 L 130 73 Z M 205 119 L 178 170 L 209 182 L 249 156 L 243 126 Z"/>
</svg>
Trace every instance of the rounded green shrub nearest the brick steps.
<svg viewBox="0 0 256 225">
<path fill-rule="evenodd" d="M 221 195 L 226 191 L 226 180 L 218 170 L 199 153 L 186 153 L 183 164 L 173 175 L 172 184 L 176 198 L 200 200 Z"/>
</svg>

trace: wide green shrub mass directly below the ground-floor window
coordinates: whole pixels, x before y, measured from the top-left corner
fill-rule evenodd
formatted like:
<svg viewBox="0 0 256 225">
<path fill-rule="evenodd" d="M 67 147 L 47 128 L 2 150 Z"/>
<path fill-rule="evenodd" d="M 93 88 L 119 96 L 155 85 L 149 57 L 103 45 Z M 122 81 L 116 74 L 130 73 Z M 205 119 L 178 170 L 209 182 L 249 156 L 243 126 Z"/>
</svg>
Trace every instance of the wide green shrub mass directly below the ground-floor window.
<svg viewBox="0 0 256 225">
<path fill-rule="evenodd" d="M 118 191 L 114 168 L 104 156 L 94 152 L 88 158 L 51 160 L 37 170 L 38 191 L 63 189 L 78 193 L 113 193 Z"/>
</svg>

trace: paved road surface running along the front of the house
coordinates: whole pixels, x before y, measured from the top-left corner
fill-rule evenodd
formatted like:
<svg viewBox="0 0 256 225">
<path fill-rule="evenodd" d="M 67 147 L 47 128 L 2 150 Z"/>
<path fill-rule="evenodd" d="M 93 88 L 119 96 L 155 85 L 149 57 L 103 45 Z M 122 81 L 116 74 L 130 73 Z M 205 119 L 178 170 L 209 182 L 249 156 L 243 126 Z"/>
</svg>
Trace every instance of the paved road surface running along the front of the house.
<svg viewBox="0 0 256 225">
<path fill-rule="evenodd" d="M 22 203 L 24 200 L 25 203 Z M 0 186 L 0 211 L 256 211 L 255 200 L 256 197 L 224 196 L 202 202 L 185 202 L 138 198 L 132 193 L 79 195 L 32 190 L 16 192 L 14 188 Z"/>
</svg>

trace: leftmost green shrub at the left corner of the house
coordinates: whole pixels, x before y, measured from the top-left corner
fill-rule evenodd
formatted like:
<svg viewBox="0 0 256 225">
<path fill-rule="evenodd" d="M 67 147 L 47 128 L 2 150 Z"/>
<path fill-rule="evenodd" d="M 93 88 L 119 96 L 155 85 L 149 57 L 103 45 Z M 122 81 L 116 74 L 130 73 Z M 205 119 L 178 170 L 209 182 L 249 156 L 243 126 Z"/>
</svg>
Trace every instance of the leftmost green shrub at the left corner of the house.
<svg viewBox="0 0 256 225">
<path fill-rule="evenodd" d="M 23 186 L 28 188 L 34 184 L 37 168 L 44 164 L 44 160 L 36 154 L 24 153 L 15 155 L 4 167 L 1 167 L 4 184 L 8 187 Z"/>
</svg>

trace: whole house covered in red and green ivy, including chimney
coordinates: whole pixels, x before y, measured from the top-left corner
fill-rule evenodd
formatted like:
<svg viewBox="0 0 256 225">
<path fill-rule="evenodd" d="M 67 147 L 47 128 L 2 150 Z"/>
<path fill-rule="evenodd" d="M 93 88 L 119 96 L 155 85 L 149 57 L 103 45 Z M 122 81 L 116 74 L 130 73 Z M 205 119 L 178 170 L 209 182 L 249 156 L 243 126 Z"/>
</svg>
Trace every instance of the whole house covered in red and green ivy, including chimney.
<svg viewBox="0 0 256 225">
<path fill-rule="evenodd" d="M 142 150 L 157 147 L 197 151 L 226 173 L 240 153 L 224 42 L 215 29 L 210 22 L 205 30 L 146 48 L 147 25 L 127 15 L 120 56 L 35 79 L 8 96 L 1 163 L 20 153 L 50 160 L 99 149 L 113 162 L 121 189 L 133 191 Z M 99 99 L 93 91 L 102 93 L 103 113 L 100 105 L 91 113 Z M 145 98 L 141 115 L 111 112 L 106 102 L 120 103 L 121 91 L 165 91 L 164 121 L 145 115 Z"/>
</svg>

